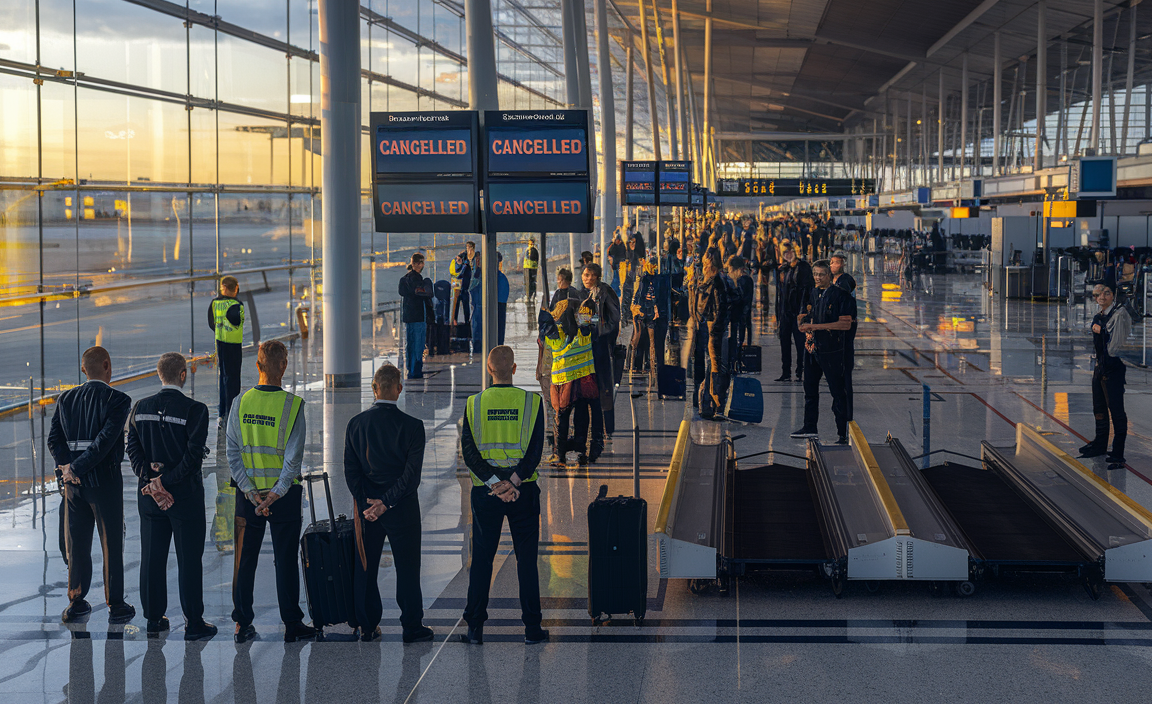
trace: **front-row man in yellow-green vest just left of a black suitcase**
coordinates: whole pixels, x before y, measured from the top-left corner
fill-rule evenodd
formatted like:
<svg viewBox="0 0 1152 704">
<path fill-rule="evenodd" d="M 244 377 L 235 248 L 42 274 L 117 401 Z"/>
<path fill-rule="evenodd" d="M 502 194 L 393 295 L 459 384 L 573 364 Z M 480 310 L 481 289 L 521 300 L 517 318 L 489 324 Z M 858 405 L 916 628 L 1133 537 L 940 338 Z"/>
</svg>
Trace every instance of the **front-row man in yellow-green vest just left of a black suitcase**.
<svg viewBox="0 0 1152 704">
<path fill-rule="evenodd" d="M 285 642 L 308 641 L 316 629 L 300 608 L 300 532 L 303 523 L 300 468 L 304 459 L 304 400 L 280 387 L 288 349 L 279 340 L 260 343 L 256 356 L 259 384 L 244 392 L 228 416 L 228 468 L 236 497 L 235 567 L 232 620 L 236 642 L 256 637 L 252 626 L 256 566 L 264 530 L 272 529 L 276 599 Z M 243 498 L 241 498 L 243 495 Z"/>
</svg>

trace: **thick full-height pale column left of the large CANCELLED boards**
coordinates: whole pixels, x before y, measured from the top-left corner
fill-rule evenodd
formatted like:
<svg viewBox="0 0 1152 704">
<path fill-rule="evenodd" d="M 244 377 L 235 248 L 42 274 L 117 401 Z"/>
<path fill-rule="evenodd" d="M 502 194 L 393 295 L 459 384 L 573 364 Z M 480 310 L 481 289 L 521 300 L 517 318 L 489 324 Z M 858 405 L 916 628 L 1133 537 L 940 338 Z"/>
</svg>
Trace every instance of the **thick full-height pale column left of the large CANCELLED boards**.
<svg viewBox="0 0 1152 704">
<path fill-rule="evenodd" d="M 359 6 L 320 0 L 324 384 L 359 387 Z"/>
</svg>

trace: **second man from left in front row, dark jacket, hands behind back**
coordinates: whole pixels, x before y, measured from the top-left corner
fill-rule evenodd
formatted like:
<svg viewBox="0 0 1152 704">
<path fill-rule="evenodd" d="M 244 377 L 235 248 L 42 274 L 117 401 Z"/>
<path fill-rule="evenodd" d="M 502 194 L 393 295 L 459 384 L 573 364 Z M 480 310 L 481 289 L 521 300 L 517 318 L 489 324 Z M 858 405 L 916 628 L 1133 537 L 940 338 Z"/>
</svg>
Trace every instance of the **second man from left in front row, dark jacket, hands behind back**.
<svg viewBox="0 0 1152 704">
<path fill-rule="evenodd" d="M 176 542 L 184 639 L 206 641 L 217 627 L 204 621 L 204 462 L 209 407 L 181 391 L 188 361 L 165 353 L 156 365 L 160 393 L 136 402 L 128 418 L 128 459 L 138 480 L 141 605 L 147 634 L 168 630 L 168 547 Z"/>
</svg>

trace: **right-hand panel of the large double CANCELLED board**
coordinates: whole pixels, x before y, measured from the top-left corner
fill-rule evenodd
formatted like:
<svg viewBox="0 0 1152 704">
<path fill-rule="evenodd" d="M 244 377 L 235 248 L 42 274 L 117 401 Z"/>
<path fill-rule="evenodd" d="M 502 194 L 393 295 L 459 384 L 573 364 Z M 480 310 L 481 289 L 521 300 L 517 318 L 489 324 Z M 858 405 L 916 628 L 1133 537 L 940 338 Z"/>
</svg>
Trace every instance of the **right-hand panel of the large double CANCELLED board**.
<svg viewBox="0 0 1152 704">
<path fill-rule="evenodd" d="M 588 111 L 486 111 L 488 232 L 592 232 Z"/>
</svg>

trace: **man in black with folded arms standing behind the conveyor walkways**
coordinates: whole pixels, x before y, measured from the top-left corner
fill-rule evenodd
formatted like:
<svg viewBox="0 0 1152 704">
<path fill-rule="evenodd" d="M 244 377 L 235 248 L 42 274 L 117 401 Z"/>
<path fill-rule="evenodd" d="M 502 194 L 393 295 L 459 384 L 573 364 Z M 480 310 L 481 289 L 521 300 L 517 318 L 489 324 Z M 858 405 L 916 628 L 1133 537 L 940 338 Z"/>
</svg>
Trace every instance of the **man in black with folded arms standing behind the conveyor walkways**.
<svg viewBox="0 0 1152 704">
<path fill-rule="evenodd" d="M 804 426 L 793 438 L 816 438 L 820 419 L 820 376 L 828 379 L 832 414 L 836 418 L 838 445 L 848 444 L 848 400 L 844 394 L 844 333 L 852 326 L 848 295 L 832 286 L 832 268 L 827 262 L 812 266 L 816 288 L 808 310 L 797 319 L 806 336 L 804 350 Z"/>
</svg>

